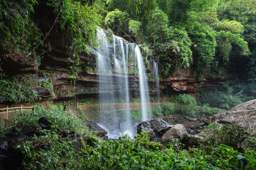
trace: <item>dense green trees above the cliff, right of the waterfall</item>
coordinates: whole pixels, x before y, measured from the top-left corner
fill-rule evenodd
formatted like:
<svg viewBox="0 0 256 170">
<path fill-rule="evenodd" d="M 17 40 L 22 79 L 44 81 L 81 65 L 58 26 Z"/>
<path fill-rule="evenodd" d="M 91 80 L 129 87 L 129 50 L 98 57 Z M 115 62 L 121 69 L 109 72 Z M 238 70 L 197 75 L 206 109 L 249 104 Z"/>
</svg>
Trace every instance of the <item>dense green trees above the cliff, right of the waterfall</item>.
<svg viewBox="0 0 256 170">
<path fill-rule="evenodd" d="M 130 37 L 137 43 L 149 44 L 155 58 L 163 66 L 160 68 L 161 76 L 172 76 L 177 69 L 192 67 L 196 70 L 194 76 L 201 79 L 208 74 L 221 74 L 222 68 L 245 71 L 250 66 L 248 76 L 254 81 L 253 37 L 256 30 L 253 22 L 253 0 L 126 2 L 107 1 L 106 8 L 109 12 L 105 23 L 108 22 L 109 15 L 115 15 L 125 22 L 105 26 L 115 34 L 127 37 L 126 33 L 131 33 Z M 114 14 L 116 10 L 120 14 L 125 13 L 125 19 L 118 17 L 120 14 Z M 239 62 L 240 60 L 243 62 Z"/>
</svg>

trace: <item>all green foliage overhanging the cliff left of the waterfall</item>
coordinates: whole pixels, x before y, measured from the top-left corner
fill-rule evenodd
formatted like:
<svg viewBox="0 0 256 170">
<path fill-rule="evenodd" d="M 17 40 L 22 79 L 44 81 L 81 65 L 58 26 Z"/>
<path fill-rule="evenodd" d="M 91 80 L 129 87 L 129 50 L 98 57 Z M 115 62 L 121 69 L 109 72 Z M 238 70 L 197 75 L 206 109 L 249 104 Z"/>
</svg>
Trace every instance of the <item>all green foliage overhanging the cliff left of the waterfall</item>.
<svg viewBox="0 0 256 170">
<path fill-rule="evenodd" d="M 38 26 L 38 11 L 35 11 L 38 8 L 45 8 L 48 11 L 45 17 L 54 21 L 45 35 Z M 70 57 L 76 60 L 76 65 L 73 66 L 75 68 L 79 65 L 79 55 L 89 52 L 88 46 L 97 46 L 95 31 L 101 25 L 103 12 L 104 4 L 101 0 L 1 0 L 0 48 L 11 48 L 13 52 L 21 51 L 41 58 L 36 53 L 38 47 L 47 46 L 50 50 L 50 43 L 46 38 L 56 27 L 64 31 L 63 43 Z M 1 56 L 3 57 L 6 56 Z"/>
</svg>

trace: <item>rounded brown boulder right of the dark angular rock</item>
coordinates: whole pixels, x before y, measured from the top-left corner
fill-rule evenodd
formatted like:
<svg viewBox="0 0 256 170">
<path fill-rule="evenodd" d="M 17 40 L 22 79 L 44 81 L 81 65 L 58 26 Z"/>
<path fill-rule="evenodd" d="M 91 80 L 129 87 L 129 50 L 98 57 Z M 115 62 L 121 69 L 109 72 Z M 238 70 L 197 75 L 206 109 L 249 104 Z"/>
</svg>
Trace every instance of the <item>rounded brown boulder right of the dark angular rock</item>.
<svg viewBox="0 0 256 170">
<path fill-rule="evenodd" d="M 182 137 L 187 133 L 186 128 L 182 124 L 176 124 L 171 127 L 160 139 L 161 144 L 169 144 L 170 142 L 180 142 Z"/>
</svg>

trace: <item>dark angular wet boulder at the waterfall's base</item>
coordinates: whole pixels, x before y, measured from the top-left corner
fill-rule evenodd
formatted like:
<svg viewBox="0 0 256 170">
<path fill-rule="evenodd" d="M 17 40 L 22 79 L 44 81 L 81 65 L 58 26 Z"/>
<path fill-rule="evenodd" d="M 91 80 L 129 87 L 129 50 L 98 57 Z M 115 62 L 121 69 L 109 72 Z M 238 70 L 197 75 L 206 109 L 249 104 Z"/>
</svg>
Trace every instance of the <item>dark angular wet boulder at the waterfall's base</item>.
<svg viewBox="0 0 256 170">
<path fill-rule="evenodd" d="M 137 133 L 140 134 L 142 131 L 147 133 L 150 140 L 160 141 L 161 136 L 165 134 L 171 127 L 172 124 L 164 121 L 163 119 L 152 119 L 150 121 L 143 121 L 137 126 Z"/>
</svg>

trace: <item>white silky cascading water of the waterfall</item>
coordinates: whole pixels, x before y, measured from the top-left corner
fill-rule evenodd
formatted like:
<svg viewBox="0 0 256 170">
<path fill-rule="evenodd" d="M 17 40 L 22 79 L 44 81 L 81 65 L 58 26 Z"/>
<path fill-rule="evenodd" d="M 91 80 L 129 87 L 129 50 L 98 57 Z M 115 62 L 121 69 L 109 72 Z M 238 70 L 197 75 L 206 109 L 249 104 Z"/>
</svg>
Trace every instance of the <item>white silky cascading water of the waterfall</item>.
<svg viewBox="0 0 256 170">
<path fill-rule="evenodd" d="M 123 102 L 130 102 L 130 85 L 128 70 L 130 67 L 138 69 L 139 91 L 142 102 L 142 121 L 149 119 L 147 107 L 149 102 L 149 88 L 147 74 L 145 72 L 142 54 L 139 46 L 135 43 L 124 43 L 123 39 L 113 35 L 113 43 L 107 37 L 104 30 L 98 33 L 98 99 L 99 101 L 114 101 L 122 99 Z M 129 63 L 129 64 L 128 64 Z M 130 66 L 131 65 L 131 66 Z M 110 138 L 118 138 L 124 134 L 133 137 L 136 134 L 136 123 L 131 121 L 131 111 L 123 111 L 123 117 L 120 118 L 119 112 L 101 112 L 99 124 L 107 130 Z"/>
</svg>

